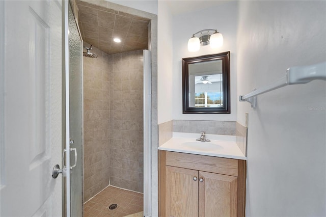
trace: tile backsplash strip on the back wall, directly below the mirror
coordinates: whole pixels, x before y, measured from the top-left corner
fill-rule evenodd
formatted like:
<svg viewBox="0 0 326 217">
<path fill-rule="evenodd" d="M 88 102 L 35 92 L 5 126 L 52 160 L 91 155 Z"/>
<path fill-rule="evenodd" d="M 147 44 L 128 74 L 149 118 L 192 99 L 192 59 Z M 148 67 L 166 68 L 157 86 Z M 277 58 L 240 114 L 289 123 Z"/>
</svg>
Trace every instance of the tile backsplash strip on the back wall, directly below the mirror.
<svg viewBox="0 0 326 217">
<path fill-rule="evenodd" d="M 173 120 L 173 132 L 235 135 L 235 121 Z"/>
</svg>

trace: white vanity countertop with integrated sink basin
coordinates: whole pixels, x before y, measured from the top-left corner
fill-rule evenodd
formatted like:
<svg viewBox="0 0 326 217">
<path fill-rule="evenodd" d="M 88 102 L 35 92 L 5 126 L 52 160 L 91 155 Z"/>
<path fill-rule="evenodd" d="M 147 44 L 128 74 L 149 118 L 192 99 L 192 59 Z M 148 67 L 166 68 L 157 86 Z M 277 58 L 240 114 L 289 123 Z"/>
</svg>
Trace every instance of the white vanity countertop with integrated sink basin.
<svg viewBox="0 0 326 217">
<path fill-rule="evenodd" d="M 172 138 L 159 150 L 247 160 L 235 142 L 235 135 L 206 134 L 211 142 L 196 141 L 199 133 L 173 132 Z"/>
</svg>

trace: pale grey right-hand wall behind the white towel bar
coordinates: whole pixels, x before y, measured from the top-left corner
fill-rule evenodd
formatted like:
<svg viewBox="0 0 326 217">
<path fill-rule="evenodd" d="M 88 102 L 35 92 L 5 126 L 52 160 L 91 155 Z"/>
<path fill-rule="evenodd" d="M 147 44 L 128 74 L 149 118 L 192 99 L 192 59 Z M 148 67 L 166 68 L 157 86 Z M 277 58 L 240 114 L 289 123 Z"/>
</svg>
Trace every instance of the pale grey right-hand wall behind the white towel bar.
<svg viewBox="0 0 326 217">
<path fill-rule="evenodd" d="M 290 66 L 326 61 L 325 1 L 241 1 L 238 95 L 277 80 Z M 326 82 L 258 97 L 249 112 L 247 216 L 326 216 Z"/>
</svg>

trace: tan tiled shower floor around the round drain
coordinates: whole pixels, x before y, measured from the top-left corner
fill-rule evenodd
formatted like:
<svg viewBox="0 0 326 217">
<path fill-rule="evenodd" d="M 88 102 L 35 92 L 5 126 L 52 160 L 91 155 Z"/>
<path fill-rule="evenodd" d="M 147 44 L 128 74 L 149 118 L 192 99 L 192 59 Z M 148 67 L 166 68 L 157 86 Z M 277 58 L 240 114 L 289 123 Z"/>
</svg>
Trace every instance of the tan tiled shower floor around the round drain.
<svg viewBox="0 0 326 217">
<path fill-rule="evenodd" d="M 108 207 L 111 204 L 118 204 L 118 207 L 110 210 Z M 84 204 L 84 217 L 123 217 L 141 211 L 143 211 L 143 194 L 114 186 L 107 186 Z"/>
</svg>

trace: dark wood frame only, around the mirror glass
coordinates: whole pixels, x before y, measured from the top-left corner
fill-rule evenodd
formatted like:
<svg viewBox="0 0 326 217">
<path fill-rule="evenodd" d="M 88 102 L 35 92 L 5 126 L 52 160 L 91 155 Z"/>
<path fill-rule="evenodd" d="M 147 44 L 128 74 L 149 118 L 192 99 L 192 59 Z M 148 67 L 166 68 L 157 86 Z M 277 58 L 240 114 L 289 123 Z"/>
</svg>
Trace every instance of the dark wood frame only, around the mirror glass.
<svg viewBox="0 0 326 217">
<path fill-rule="evenodd" d="M 222 60 L 223 106 L 189 107 L 189 64 Z M 183 114 L 230 114 L 230 51 L 182 59 L 182 108 Z"/>
</svg>

